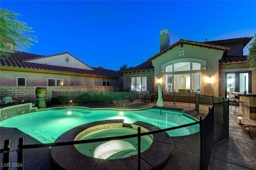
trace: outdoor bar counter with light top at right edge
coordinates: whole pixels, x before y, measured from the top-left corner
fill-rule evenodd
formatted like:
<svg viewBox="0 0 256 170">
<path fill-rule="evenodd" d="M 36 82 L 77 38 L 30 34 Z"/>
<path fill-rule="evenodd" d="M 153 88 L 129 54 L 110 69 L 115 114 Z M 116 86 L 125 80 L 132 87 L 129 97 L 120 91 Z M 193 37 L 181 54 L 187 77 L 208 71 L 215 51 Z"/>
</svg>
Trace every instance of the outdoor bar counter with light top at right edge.
<svg viewBox="0 0 256 170">
<path fill-rule="evenodd" d="M 249 119 L 256 120 L 256 94 L 243 92 L 231 92 L 233 95 L 239 97 L 240 101 L 244 101 L 244 114 Z"/>
</svg>

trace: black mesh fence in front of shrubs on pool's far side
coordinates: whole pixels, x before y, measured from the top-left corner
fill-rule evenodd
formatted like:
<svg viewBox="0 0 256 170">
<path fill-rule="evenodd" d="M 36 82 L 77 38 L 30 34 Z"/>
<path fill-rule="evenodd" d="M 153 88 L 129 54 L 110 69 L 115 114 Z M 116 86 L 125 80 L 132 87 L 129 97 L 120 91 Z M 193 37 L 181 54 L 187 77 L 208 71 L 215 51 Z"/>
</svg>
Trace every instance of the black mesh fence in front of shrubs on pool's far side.
<svg viewBox="0 0 256 170">
<path fill-rule="evenodd" d="M 52 91 L 53 105 L 141 106 L 150 103 L 150 92 Z"/>
</svg>

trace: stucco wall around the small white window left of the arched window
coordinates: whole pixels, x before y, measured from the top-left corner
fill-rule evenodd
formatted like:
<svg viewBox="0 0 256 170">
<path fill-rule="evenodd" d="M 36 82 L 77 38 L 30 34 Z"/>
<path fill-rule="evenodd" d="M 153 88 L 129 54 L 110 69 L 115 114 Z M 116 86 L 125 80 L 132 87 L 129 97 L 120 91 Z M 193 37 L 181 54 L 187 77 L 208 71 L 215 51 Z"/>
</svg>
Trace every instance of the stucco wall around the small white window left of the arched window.
<svg viewBox="0 0 256 170">
<path fill-rule="evenodd" d="M 147 77 L 147 91 L 154 91 L 154 71 L 140 71 L 135 73 L 124 73 L 124 90 L 131 86 L 132 76 L 146 76 Z M 130 88 L 131 89 L 131 88 Z"/>
</svg>

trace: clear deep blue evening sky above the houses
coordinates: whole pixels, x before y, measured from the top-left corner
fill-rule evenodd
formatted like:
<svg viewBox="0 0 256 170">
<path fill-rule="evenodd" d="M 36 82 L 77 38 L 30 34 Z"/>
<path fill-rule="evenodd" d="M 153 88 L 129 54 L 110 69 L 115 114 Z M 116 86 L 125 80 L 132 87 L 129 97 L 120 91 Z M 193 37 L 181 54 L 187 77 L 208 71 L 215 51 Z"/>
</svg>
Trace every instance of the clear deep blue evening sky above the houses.
<svg viewBox="0 0 256 170">
<path fill-rule="evenodd" d="M 22 16 L 38 43 L 30 53 L 68 51 L 91 67 L 119 70 L 159 52 L 160 30 L 171 44 L 254 36 L 256 1 L 13 1 L 1 8 Z M 244 52 L 246 55 L 248 51 Z"/>
</svg>

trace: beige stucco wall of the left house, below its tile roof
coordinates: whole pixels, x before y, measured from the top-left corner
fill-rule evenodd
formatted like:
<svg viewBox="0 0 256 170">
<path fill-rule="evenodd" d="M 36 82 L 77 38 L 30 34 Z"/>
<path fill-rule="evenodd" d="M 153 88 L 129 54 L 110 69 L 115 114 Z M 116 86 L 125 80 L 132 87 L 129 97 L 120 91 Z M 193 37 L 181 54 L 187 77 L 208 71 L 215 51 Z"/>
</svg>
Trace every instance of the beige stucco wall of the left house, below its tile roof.
<svg viewBox="0 0 256 170">
<path fill-rule="evenodd" d="M 26 77 L 26 86 L 47 86 L 47 79 L 64 79 L 64 86 L 102 86 L 102 81 L 110 81 L 111 86 L 121 85 L 118 78 L 92 77 L 84 75 L 66 75 L 56 73 L 32 73 L 22 71 L 0 72 L 1 86 L 16 86 L 17 77 Z"/>
</svg>

